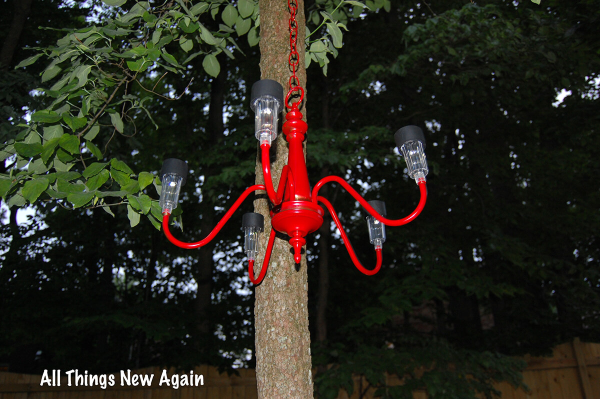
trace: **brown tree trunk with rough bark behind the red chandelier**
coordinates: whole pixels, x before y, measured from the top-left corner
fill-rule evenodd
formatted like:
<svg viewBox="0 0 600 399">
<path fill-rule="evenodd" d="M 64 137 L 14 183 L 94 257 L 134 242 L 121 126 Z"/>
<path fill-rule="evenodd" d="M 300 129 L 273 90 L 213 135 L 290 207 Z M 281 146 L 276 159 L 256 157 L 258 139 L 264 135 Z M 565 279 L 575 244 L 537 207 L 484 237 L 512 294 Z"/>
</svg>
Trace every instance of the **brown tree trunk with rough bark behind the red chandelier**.
<svg viewBox="0 0 600 399">
<path fill-rule="evenodd" d="M 291 75 L 289 55 L 289 10 L 286 0 L 260 0 L 260 71 L 262 79 L 277 80 L 287 94 Z M 302 86 L 304 70 L 304 3 L 298 2 L 298 53 Z M 304 103 L 305 105 L 305 103 Z M 305 107 L 302 108 L 305 112 Z M 280 127 L 281 131 L 281 127 Z M 280 134 L 271 149 L 272 175 L 277 187 L 281 168 L 287 162 L 287 143 Z M 256 182 L 263 183 L 260 157 L 257 158 Z M 262 265 L 266 241 L 271 231 L 268 200 L 254 202 L 256 212 L 265 216 L 257 265 Z M 312 398 L 310 333 L 308 332 L 307 265 L 303 256 L 299 268 L 294 263 L 287 237 L 275 239 L 271 264 L 265 280 L 256 287 L 254 304 L 256 331 L 256 374 L 259 398 Z M 256 268 L 258 275 L 260 268 Z"/>
</svg>

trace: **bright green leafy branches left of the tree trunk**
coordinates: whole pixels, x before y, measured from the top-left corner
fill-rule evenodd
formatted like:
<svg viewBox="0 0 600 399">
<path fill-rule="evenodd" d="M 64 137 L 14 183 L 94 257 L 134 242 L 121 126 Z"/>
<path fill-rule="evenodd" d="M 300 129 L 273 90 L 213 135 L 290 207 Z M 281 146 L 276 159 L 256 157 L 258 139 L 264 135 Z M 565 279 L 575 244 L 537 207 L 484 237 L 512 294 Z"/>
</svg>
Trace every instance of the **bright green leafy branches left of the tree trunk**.
<svg viewBox="0 0 600 399">
<path fill-rule="evenodd" d="M 125 4 L 105 3 L 112 7 Z M 217 56 L 224 53 L 233 58 L 231 49 L 238 48 L 235 36 L 247 34 L 253 24 L 256 28 L 257 16 L 257 4 L 251 0 L 238 2 L 237 8 L 221 1 L 197 2 L 191 8 L 183 1 L 169 7 L 136 2 L 101 25 L 67 29 L 56 46 L 37 49 L 41 52 L 17 68 L 49 60 L 41 72 L 41 82 L 47 86 L 38 89 L 49 105 L 32 110 L 31 122 L 2 143 L 0 160 L 10 160 L 13 166 L 4 174 L 11 184 L 2 190 L 2 198 L 11 206 L 58 200 L 72 208 L 106 209 L 124 203 L 129 205 L 131 224 L 145 214 L 160 226 L 147 207 L 134 206 L 127 198 L 148 197 L 142 190 L 148 187 L 151 172 L 140 172 L 143 182 L 138 184 L 133 169 L 110 157 L 109 145 L 115 135 L 136 134 L 136 119 L 151 115 L 148 105 L 152 97 L 167 98 L 145 86 L 149 76 L 182 74 L 201 56 L 206 74 L 216 77 L 221 70 Z M 224 25 L 209 29 L 219 17 Z M 234 17 L 235 30 L 231 28 Z M 256 29 L 248 40 L 257 43 Z M 143 91 L 131 91 L 134 85 Z M 57 174 L 64 172 L 78 176 L 66 180 Z"/>
</svg>

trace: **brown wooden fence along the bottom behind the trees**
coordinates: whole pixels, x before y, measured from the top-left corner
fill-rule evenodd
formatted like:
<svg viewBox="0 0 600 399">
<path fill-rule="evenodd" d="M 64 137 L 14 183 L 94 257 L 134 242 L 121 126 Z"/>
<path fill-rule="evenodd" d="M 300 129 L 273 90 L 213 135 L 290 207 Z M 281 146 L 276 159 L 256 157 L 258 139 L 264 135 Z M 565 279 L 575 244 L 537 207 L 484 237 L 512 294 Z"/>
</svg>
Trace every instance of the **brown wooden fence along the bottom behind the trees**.
<svg viewBox="0 0 600 399">
<path fill-rule="evenodd" d="M 575 339 L 554 348 L 553 356 L 549 358 L 527 356 L 525 360 L 528 366 L 523 371 L 523 379 L 530 391 L 516 390 L 508 383 L 500 383 L 497 389 L 502 392 L 503 399 L 600 399 L 600 344 L 581 343 Z M 56 375 L 52 376 L 52 370 L 45 376 L 0 372 L 0 399 L 256 398 L 256 373 L 250 369 L 238 371 L 239 376 L 219 374 L 216 368 L 208 366 L 196 367 L 185 374 L 161 368 L 123 370 L 109 376 L 85 376 L 79 371 L 77 386 L 75 373 L 67 374 L 68 370 L 62 370 L 60 386 L 57 386 L 58 380 Z M 68 386 L 69 376 L 71 386 Z M 150 376 L 151 381 L 148 380 Z M 398 379 L 390 377 L 389 382 L 393 384 L 394 381 Z M 356 379 L 355 383 L 355 393 L 351 397 L 341 391 L 338 398 L 358 399 L 360 380 Z M 373 398 L 373 393 L 367 392 L 364 398 Z M 427 395 L 415 392 L 414 398 L 427 399 Z"/>
</svg>

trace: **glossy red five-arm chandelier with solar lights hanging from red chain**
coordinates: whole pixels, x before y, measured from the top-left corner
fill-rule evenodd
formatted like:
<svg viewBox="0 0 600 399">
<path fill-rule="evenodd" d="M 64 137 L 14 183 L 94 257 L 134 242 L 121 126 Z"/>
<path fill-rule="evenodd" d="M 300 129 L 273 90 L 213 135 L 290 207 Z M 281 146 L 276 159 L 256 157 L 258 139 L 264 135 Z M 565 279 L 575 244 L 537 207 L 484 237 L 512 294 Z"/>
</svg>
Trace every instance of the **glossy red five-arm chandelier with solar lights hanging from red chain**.
<svg viewBox="0 0 600 399">
<path fill-rule="evenodd" d="M 258 277 L 254 276 L 254 260 L 259 252 L 259 233 L 263 231 L 263 216 L 254 212 L 244 214 L 242 217 L 242 229 L 244 230 L 244 252 L 248 256 L 248 274 L 253 284 L 260 284 L 265 277 L 273 243 L 275 241 L 275 232 L 285 233 L 290 239 L 290 245 L 293 247 L 294 260 L 300 263 L 302 259 L 301 250 L 306 244 L 305 237 L 319 229 L 323 224 L 322 204 L 327 208 L 329 214 L 340 230 L 341 238 L 346 245 L 346 249 L 352 259 L 352 262 L 362 273 L 366 275 L 376 274 L 382 264 L 382 245 L 385 242 L 385 225 L 402 226 L 413 221 L 422 211 L 427 200 L 427 187 L 425 185 L 425 176 L 428 173 L 427 160 L 425 158 L 425 137 L 421 128 L 410 125 L 398 130 L 394 137 L 400 152 L 406 160 L 408 175 L 415 179 L 421 199 L 415 210 L 404 218 L 391 220 L 386 218 L 385 203 L 379 200 L 367 202 L 361 194 L 354 190 L 350 184 L 338 176 L 326 176 L 320 179 L 314 187 L 310 188 L 308 182 L 308 173 L 304 159 L 302 143 L 306 139 L 308 125 L 302 120 L 302 113 L 299 111 L 299 103 L 304 98 L 304 90 L 299 86 L 296 76 L 296 67 L 299 57 L 296 52 L 297 26 L 295 22 L 296 8 L 295 4 L 290 2 L 290 56 L 289 64 L 292 69 L 292 76 L 289 80 L 289 92 L 285 103 L 283 98 L 283 86 L 278 82 L 269 79 L 259 80 L 254 83 L 251 91 L 250 107 L 254 111 L 255 117 L 255 135 L 260 142 L 260 152 L 262 161 L 263 178 L 265 184 L 254 184 L 248 187 L 239 198 L 233 203 L 231 208 L 225 213 L 223 218 L 217 223 L 217 226 L 206 236 L 206 238 L 197 242 L 182 242 L 175 238 L 169 231 L 169 216 L 176 208 L 179 191 L 187 179 L 187 164 L 176 158 L 169 158 L 164 161 L 160 172 L 162 189 L 160 194 L 160 206 L 163 208 L 163 230 L 170 242 L 181 248 L 199 248 L 208 244 L 215 235 L 221 230 L 225 223 L 232 217 L 236 209 L 242 202 L 254 191 L 266 191 L 271 202 L 271 233 L 266 248 L 265 258 Z M 291 106 L 287 104 L 290 96 L 298 93 L 297 101 Z M 287 165 L 281 170 L 281 177 L 277 191 L 273 186 L 271 178 L 271 162 L 269 160 L 269 149 L 271 143 L 277 137 L 278 116 L 283 104 L 289 108 L 286 115 L 286 121 L 283 123 L 283 133 L 286 136 L 289 145 Z M 319 196 L 319 190 L 328 182 L 340 184 L 355 200 L 357 200 L 367 211 L 367 227 L 369 239 L 374 245 L 377 262 L 373 269 L 366 269 L 359 262 L 356 254 L 346 235 L 344 227 L 341 225 L 337 212 L 331 203 L 322 196 Z"/>
</svg>

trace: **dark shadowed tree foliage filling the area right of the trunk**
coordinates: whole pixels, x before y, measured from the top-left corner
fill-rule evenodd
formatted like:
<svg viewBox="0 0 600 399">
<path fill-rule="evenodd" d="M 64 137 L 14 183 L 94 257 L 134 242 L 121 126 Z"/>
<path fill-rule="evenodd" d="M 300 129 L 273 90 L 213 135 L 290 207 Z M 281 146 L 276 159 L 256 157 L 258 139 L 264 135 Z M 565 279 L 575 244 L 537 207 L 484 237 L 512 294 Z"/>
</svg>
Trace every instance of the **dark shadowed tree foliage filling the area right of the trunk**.
<svg viewBox="0 0 600 399">
<path fill-rule="evenodd" d="M 320 397 L 350 392 L 352 374 L 365 378 L 359 394 L 493 397 L 494 381 L 519 385 L 523 364 L 508 355 L 597 340 L 599 202 L 579 183 L 598 171 L 597 12 L 547 4 L 394 4 L 349 23 L 344 50 L 361 50 L 341 51 L 331 77 L 309 76 L 308 120 L 328 126 L 308 138 L 312 176 L 345 176 L 395 218 L 412 211 L 416 189 L 394 160 L 393 132 L 424 127 L 430 165 L 424 212 L 387 230 L 378 275 L 355 272 L 335 231 L 309 245 L 309 285 L 322 281 L 327 245 L 335 296 L 327 341 L 313 348 Z M 572 95 L 556 104 L 561 88 Z M 364 211 L 329 188 L 372 266 Z M 384 373 L 404 385 L 386 386 Z"/>
</svg>

